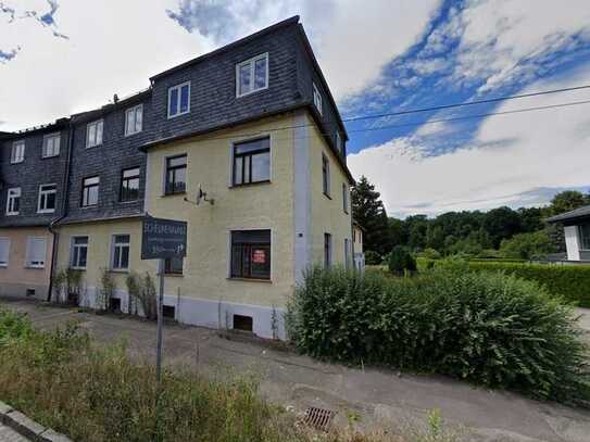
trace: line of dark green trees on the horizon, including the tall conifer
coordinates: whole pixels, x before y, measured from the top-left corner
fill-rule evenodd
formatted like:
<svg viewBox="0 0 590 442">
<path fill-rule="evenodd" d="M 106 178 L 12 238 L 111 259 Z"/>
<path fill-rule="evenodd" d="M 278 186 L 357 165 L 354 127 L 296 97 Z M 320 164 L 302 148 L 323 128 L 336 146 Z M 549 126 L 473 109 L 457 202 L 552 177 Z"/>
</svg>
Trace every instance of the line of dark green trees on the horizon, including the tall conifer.
<svg viewBox="0 0 590 442">
<path fill-rule="evenodd" d="M 590 193 L 566 190 L 540 207 L 507 206 L 488 212 L 447 212 L 436 217 L 387 215 L 380 193 L 366 177 L 352 193 L 354 220 L 364 229 L 368 264 L 380 263 L 396 245 L 429 257 L 465 255 L 530 260 L 565 250 L 563 231 L 548 225 L 550 216 L 590 204 Z"/>
</svg>

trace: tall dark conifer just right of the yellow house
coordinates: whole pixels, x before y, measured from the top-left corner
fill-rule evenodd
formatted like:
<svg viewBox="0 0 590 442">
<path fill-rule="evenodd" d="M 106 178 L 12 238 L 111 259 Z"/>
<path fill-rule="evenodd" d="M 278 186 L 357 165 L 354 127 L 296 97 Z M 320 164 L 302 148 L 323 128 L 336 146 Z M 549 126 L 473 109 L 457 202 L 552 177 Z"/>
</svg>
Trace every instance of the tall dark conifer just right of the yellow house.
<svg viewBox="0 0 590 442">
<path fill-rule="evenodd" d="M 390 249 L 389 222 L 380 193 L 368 182 L 365 176 L 353 187 L 351 192 L 352 216 L 364 229 L 364 248 L 379 255 Z"/>
</svg>

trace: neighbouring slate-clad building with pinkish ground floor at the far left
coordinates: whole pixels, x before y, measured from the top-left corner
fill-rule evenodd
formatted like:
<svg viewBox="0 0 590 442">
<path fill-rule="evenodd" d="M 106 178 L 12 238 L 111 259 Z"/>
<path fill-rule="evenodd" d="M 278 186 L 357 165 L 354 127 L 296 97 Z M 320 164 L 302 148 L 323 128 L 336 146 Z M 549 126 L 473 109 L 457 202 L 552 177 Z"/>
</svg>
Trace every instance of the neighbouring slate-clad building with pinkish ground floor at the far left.
<svg viewBox="0 0 590 442">
<path fill-rule="evenodd" d="M 63 213 L 70 119 L 0 135 L 0 295 L 46 299 Z"/>
</svg>

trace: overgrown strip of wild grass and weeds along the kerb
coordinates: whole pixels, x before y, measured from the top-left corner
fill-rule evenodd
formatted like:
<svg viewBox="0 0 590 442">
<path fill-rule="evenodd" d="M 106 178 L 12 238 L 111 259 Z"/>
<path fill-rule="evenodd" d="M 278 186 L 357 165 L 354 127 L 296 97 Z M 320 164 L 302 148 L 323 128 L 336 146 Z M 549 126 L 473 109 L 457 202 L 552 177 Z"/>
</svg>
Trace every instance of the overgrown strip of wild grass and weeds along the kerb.
<svg viewBox="0 0 590 442">
<path fill-rule="evenodd" d="M 0 310 L 0 400 L 76 441 L 410 442 L 452 441 L 439 421 L 406 435 L 316 433 L 264 401 L 248 378 L 211 381 L 193 371 L 154 368 L 125 348 L 95 346 L 75 327 L 53 332 Z"/>
</svg>

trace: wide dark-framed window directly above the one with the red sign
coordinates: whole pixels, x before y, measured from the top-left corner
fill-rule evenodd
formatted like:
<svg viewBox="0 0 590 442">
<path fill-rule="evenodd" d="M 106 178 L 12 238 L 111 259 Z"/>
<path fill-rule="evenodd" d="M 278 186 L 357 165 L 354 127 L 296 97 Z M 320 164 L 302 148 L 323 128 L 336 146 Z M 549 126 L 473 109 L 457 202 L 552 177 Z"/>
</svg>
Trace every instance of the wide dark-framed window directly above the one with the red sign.
<svg viewBox="0 0 590 442">
<path fill-rule="evenodd" d="M 268 181 L 269 179 L 269 138 L 234 144 L 234 186 Z"/>
</svg>

